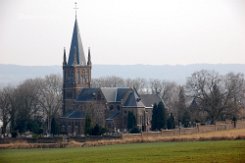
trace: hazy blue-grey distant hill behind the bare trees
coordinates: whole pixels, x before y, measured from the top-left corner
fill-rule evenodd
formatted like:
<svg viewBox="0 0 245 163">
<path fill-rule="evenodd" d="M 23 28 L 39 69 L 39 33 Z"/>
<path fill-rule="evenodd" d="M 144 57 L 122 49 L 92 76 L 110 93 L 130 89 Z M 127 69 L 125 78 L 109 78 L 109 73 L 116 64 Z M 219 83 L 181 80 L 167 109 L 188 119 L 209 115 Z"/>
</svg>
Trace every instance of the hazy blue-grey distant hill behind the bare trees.
<svg viewBox="0 0 245 163">
<path fill-rule="evenodd" d="M 158 78 L 184 84 L 186 77 L 198 70 L 214 70 L 220 74 L 241 72 L 245 64 L 193 64 L 193 65 L 93 65 L 92 77 L 119 76 L 122 78 Z M 19 66 L 0 64 L 0 87 L 16 85 L 25 79 L 62 74 L 61 66 Z"/>
</svg>

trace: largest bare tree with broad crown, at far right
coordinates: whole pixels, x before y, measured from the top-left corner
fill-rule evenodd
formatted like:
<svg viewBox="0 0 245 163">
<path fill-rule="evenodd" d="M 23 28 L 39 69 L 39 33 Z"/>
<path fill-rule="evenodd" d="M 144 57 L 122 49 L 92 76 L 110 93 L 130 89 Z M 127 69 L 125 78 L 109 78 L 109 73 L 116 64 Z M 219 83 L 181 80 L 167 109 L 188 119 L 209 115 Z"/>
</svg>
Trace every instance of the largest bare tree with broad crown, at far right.
<svg viewBox="0 0 245 163">
<path fill-rule="evenodd" d="M 241 105 L 244 77 L 214 71 L 198 71 L 188 78 L 186 88 L 211 123 L 235 114 Z"/>
</svg>

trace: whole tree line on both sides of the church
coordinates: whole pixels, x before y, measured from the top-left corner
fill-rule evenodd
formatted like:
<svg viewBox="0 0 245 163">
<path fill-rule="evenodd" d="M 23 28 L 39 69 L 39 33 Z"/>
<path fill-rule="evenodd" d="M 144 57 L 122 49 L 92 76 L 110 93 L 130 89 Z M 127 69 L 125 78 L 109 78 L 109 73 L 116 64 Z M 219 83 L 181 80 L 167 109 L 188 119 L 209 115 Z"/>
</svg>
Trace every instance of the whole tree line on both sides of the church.
<svg viewBox="0 0 245 163">
<path fill-rule="evenodd" d="M 92 80 L 92 87 L 132 87 L 139 94 L 158 94 L 164 101 L 161 105 L 165 111 L 159 113 L 161 109 L 156 108 L 162 106 L 156 104 L 153 114 L 161 115 L 164 120 L 158 117 L 155 122 L 153 119 L 153 130 L 175 125 L 190 127 L 193 123 L 214 124 L 218 120 L 241 117 L 239 113 L 244 110 L 245 104 L 244 84 L 242 73 L 221 75 L 207 70 L 194 72 L 187 77 L 184 85 L 157 77 L 123 79 L 109 76 Z M 8 86 L 0 90 L 3 134 L 6 134 L 7 128 L 12 135 L 26 131 L 57 134 L 61 113 L 62 77 L 59 75 L 28 79 L 16 87 Z"/>
</svg>

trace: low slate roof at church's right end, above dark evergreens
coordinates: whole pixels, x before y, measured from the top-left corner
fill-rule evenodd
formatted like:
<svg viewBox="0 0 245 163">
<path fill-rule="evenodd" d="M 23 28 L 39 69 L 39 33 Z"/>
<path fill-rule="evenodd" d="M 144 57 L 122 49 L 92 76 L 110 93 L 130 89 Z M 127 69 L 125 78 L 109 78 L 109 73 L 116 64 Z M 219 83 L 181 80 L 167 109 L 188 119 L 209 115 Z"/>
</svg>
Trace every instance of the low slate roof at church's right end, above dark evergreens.
<svg viewBox="0 0 245 163">
<path fill-rule="evenodd" d="M 161 97 L 157 94 L 144 94 L 141 95 L 141 100 L 146 107 L 153 107 L 155 103 L 163 102 Z"/>
</svg>

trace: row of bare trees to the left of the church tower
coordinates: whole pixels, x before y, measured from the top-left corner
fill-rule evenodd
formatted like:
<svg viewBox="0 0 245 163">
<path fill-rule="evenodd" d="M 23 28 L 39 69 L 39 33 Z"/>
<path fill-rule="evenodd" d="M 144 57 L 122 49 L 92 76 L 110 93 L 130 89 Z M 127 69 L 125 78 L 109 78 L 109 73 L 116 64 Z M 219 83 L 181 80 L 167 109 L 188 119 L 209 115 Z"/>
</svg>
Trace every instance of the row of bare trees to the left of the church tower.
<svg viewBox="0 0 245 163">
<path fill-rule="evenodd" d="M 50 133 L 51 119 L 61 115 L 61 106 L 62 79 L 59 75 L 27 79 L 17 87 L 5 87 L 0 90 L 2 134 L 6 134 L 8 125 L 11 131 L 29 130 L 37 119 Z"/>
</svg>

